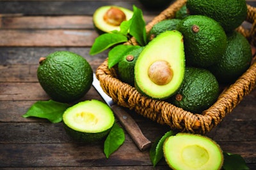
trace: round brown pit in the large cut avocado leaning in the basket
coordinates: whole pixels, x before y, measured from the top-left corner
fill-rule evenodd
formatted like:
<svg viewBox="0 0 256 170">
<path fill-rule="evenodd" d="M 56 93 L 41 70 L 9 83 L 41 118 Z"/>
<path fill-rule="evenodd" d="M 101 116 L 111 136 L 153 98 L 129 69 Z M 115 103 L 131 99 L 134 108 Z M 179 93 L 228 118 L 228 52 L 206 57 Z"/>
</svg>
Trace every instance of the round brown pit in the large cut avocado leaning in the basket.
<svg viewBox="0 0 256 170">
<path fill-rule="evenodd" d="M 148 68 L 148 76 L 157 85 L 166 85 L 172 80 L 173 70 L 168 62 L 158 60 Z"/>
</svg>

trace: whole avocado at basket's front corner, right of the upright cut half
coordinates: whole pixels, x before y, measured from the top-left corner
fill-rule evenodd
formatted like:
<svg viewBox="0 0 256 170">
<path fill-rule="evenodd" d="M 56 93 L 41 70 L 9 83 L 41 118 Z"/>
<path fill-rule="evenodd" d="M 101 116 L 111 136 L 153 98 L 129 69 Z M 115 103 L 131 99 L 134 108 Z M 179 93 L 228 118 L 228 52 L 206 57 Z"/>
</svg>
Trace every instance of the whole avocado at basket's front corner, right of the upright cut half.
<svg viewBox="0 0 256 170">
<path fill-rule="evenodd" d="M 180 101 L 177 95 L 182 96 Z M 202 113 L 219 96 L 219 83 L 207 69 L 186 67 L 183 83 L 177 93 L 167 99 L 169 103 L 191 113 Z"/>
</svg>

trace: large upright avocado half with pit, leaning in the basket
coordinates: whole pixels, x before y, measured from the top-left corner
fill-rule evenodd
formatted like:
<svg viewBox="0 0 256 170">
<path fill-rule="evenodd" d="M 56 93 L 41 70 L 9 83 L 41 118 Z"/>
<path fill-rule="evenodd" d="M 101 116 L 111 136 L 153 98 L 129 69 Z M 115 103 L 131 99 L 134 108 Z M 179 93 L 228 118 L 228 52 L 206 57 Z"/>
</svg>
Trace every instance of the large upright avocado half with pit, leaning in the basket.
<svg viewBox="0 0 256 170">
<path fill-rule="evenodd" d="M 183 36 L 165 31 L 145 46 L 134 66 L 136 89 L 154 99 L 172 96 L 182 84 L 185 72 Z"/>
</svg>

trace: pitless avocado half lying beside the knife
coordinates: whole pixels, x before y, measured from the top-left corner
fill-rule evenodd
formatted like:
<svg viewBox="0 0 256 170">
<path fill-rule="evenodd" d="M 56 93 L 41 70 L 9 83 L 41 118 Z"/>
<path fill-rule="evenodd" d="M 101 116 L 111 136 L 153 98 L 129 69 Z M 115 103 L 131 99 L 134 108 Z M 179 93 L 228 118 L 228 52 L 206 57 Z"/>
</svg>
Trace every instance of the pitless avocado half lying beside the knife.
<svg viewBox="0 0 256 170">
<path fill-rule="evenodd" d="M 113 111 L 95 99 L 77 103 L 63 113 L 67 134 L 84 143 L 100 141 L 108 135 L 114 123 Z"/>
</svg>

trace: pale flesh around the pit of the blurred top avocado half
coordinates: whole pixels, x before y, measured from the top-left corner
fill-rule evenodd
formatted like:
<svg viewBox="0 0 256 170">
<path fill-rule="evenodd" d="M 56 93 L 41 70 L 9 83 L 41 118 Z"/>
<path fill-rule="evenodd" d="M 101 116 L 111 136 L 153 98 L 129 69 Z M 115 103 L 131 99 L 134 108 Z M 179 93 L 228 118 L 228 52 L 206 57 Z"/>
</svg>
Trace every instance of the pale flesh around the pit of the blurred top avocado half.
<svg viewBox="0 0 256 170">
<path fill-rule="evenodd" d="M 126 17 L 125 20 L 129 20 L 132 18 L 133 12 L 131 10 L 128 10 L 127 8 L 122 8 L 120 6 L 102 6 L 93 13 L 93 24 L 95 25 L 96 29 L 99 29 L 99 32 L 101 31 L 102 33 L 104 33 L 114 30 L 120 31 L 120 25 L 111 25 L 104 20 L 105 13 L 111 7 L 118 8 L 119 10 L 123 11 Z"/>
</svg>

